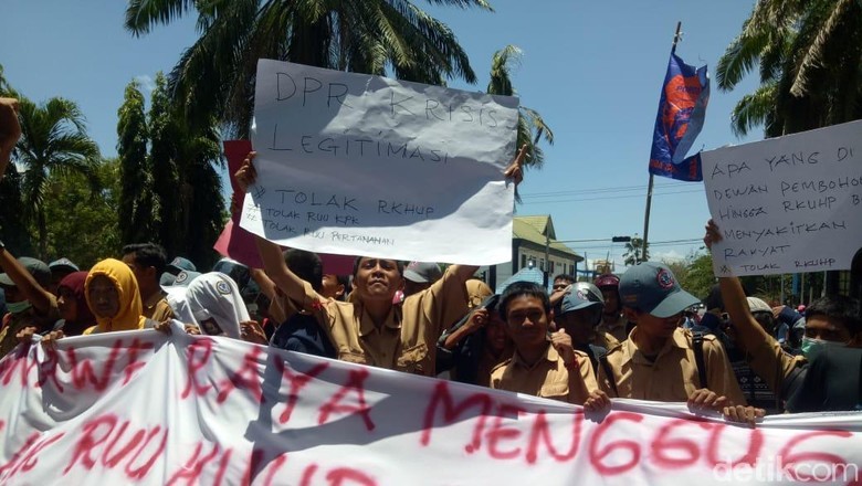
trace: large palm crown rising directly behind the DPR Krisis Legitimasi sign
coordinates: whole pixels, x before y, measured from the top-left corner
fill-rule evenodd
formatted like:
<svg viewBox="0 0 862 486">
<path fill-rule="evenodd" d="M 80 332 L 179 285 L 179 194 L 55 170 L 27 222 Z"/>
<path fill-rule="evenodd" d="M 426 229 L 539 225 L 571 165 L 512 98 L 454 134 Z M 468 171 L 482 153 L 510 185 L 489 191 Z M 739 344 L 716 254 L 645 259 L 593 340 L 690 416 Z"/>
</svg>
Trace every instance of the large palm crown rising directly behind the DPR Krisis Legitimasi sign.
<svg viewBox="0 0 862 486">
<path fill-rule="evenodd" d="M 491 10 L 486 0 L 429 0 Z M 248 137 L 257 60 L 441 84 L 475 82 L 452 31 L 410 0 L 129 0 L 126 29 L 135 35 L 196 10 L 200 39 L 170 73 L 170 93 L 186 119 L 216 116 Z"/>
</svg>

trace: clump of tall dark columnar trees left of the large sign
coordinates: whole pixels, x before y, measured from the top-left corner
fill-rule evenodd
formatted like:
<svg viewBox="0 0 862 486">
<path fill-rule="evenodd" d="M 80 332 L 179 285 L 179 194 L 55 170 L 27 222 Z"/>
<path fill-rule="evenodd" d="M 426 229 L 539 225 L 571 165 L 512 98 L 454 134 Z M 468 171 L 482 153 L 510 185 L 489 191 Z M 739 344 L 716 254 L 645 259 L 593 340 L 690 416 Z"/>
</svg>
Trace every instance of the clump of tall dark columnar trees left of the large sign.
<svg viewBox="0 0 862 486">
<path fill-rule="evenodd" d="M 130 83 L 117 126 L 123 242 L 157 242 L 169 255 L 188 256 L 207 267 L 224 224 L 214 122 L 189 127 L 171 104 L 161 73 L 148 114 L 144 105 L 137 83 Z"/>
</svg>

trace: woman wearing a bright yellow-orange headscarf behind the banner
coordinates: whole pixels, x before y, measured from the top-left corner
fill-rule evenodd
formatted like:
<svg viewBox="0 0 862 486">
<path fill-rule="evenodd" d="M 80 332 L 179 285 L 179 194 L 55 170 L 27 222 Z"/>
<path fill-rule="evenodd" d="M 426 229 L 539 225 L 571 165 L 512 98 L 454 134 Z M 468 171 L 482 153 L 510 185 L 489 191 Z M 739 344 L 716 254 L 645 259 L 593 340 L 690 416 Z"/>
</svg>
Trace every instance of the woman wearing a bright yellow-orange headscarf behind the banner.
<svg viewBox="0 0 862 486">
<path fill-rule="evenodd" d="M 84 284 L 87 305 L 96 325 L 85 335 L 143 329 L 146 318 L 135 274 L 119 260 L 107 258 L 90 270 Z"/>
</svg>

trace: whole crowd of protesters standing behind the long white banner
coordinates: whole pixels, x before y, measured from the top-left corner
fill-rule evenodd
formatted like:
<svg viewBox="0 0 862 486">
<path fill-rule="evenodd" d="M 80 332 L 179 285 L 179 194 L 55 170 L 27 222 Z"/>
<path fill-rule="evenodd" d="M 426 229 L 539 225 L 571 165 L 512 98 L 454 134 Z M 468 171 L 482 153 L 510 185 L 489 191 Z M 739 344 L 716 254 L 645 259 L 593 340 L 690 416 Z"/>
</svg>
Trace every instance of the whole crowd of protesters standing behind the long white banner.
<svg viewBox="0 0 862 486">
<path fill-rule="evenodd" d="M 524 150 L 506 171 L 519 179 Z M 253 152 L 236 173 L 254 183 Z M 709 222 L 707 246 L 721 239 Z M 602 411 L 612 399 L 687 402 L 755 423 L 765 414 L 862 410 L 860 303 L 829 295 L 770 307 L 718 278 L 705 300 L 660 263 L 551 292 L 516 282 L 501 294 L 477 267 L 357 257 L 349 276 L 255 237 L 263 268 L 220 261 L 199 273 L 157 244 L 130 244 L 88 271 L 15 258 L 0 243 L 7 313 L 0 357 L 41 340 L 156 328 L 440 377 Z M 703 307 L 702 314 L 695 309 Z M 41 339 L 34 339 L 41 335 Z"/>
</svg>

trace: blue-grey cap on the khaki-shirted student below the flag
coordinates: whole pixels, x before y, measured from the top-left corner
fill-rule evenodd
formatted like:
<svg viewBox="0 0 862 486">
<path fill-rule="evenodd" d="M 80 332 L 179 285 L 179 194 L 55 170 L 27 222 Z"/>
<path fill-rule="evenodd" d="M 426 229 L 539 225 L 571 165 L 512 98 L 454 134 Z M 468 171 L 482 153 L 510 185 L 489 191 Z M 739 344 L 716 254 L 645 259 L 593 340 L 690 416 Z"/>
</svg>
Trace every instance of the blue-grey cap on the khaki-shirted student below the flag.
<svg viewBox="0 0 862 486">
<path fill-rule="evenodd" d="M 637 308 L 659 318 L 671 317 L 701 300 L 683 290 L 673 272 L 661 263 L 632 266 L 620 278 L 623 307 Z"/>
</svg>

